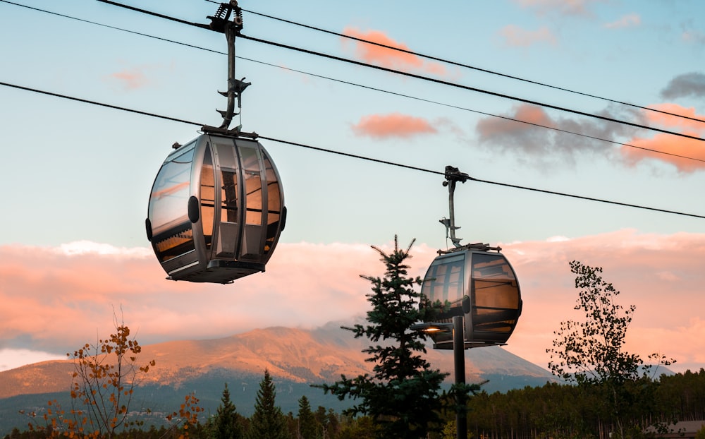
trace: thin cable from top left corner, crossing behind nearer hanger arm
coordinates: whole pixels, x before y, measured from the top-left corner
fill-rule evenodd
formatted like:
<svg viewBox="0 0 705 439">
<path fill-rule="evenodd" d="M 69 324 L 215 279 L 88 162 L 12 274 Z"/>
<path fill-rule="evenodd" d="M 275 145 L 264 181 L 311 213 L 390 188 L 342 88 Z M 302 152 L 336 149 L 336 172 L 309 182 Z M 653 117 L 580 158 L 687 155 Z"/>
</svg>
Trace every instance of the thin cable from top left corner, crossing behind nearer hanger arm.
<svg viewBox="0 0 705 439">
<path fill-rule="evenodd" d="M 124 29 L 124 28 L 118 28 L 118 27 L 116 27 L 116 26 L 106 25 L 106 24 L 104 24 L 104 23 L 97 23 L 97 22 L 91 21 L 91 20 L 84 20 L 84 19 L 82 19 L 82 18 L 76 18 L 76 17 L 73 17 L 73 16 L 67 16 L 67 15 L 64 15 L 64 14 L 61 14 L 61 13 L 56 13 L 56 12 L 52 12 L 52 11 L 46 11 L 46 10 L 44 10 L 44 9 L 34 8 L 34 7 L 32 7 L 32 6 L 26 6 L 26 5 L 23 5 L 23 4 L 14 3 L 13 1 L 8 1 L 8 0 L 0 0 L 0 1 L 1 1 L 1 2 L 4 2 L 4 3 L 8 3 L 8 4 L 15 5 L 15 6 L 22 6 L 22 7 L 24 7 L 24 8 L 29 8 L 29 9 L 32 9 L 33 11 L 39 11 L 39 12 L 49 13 L 49 14 L 52 14 L 52 15 L 55 15 L 55 16 L 60 16 L 60 17 L 63 17 L 63 18 L 71 18 L 72 20 L 77 20 L 77 21 L 80 21 L 80 22 L 82 22 L 82 23 L 89 23 L 89 24 L 92 24 L 92 25 L 102 26 L 102 27 L 104 27 L 104 28 L 109 28 L 109 29 L 113 29 L 113 30 L 121 30 L 121 31 L 123 31 L 123 32 L 128 32 L 128 33 L 132 33 L 132 34 L 135 34 L 135 35 L 140 35 L 140 36 L 142 36 L 142 37 L 149 37 L 149 38 L 154 38 L 155 40 L 161 40 L 161 41 L 165 41 L 165 42 L 171 42 L 171 43 L 174 43 L 174 44 L 180 44 L 180 45 L 183 45 L 183 46 L 186 46 L 186 47 L 191 47 L 191 48 L 193 48 L 193 49 L 201 49 L 201 50 L 204 50 L 204 51 L 207 51 L 207 52 L 212 52 L 212 53 L 215 53 L 215 54 L 227 55 L 225 52 L 220 52 L 220 51 L 217 51 L 217 50 L 214 50 L 214 49 L 208 49 L 207 47 L 200 47 L 200 46 L 196 46 L 196 45 L 194 45 L 194 44 L 188 44 L 188 43 L 185 43 L 185 42 L 179 42 L 179 41 L 176 41 L 176 40 L 170 40 L 170 39 L 168 39 L 168 38 L 157 37 L 157 36 L 145 34 L 145 33 L 142 33 L 142 32 L 136 32 L 136 31 L 133 31 L 133 30 L 128 30 L 128 29 Z M 212 0 L 206 0 L 206 1 L 212 1 Z M 216 2 L 216 1 L 212 1 L 212 3 L 218 4 L 218 2 Z M 362 41 L 366 41 L 366 40 L 362 40 Z M 460 110 L 463 110 L 463 111 L 466 111 L 466 112 L 473 112 L 473 113 L 477 113 L 477 114 L 483 114 L 483 115 L 485 115 L 485 116 L 496 117 L 496 118 L 498 118 L 498 119 L 505 119 L 505 120 L 508 120 L 508 121 L 518 122 L 518 123 L 521 123 L 521 124 L 527 124 L 527 125 L 531 125 L 531 126 L 537 126 L 537 127 L 539 127 L 539 128 L 546 128 L 546 129 L 553 130 L 553 131 L 558 131 L 558 132 L 561 132 L 561 133 L 568 133 L 568 134 L 572 134 L 572 135 L 575 135 L 575 136 L 582 136 L 582 137 L 584 137 L 584 138 L 590 138 L 590 139 L 593 139 L 593 140 L 599 140 L 599 141 L 606 142 L 606 143 L 613 143 L 613 144 L 615 144 L 615 145 L 622 145 L 622 146 L 626 146 L 627 148 L 635 148 L 635 149 L 638 149 L 638 150 L 644 150 L 644 151 L 654 152 L 654 153 L 656 153 L 656 154 L 669 155 L 669 156 L 671 156 L 671 157 L 678 157 L 678 158 L 682 158 L 682 159 L 685 159 L 685 160 L 694 160 L 694 161 L 697 161 L 697 162 L 705 162 L 705 159 L 698 159 L 698 158 L 695 158 L 695 157 L 688 157 L 688 156 L 685 156 L 685 155 L 674 154 L 673 152 L 665 152 L 665 151 L 654 150 L 654 149 L 651 149 L 651 148 L 644 148 L 644 147 L 637 146 L 637 145 L 630 145 L 629 143 L 618 142 L 618 141 L 616 141 L 616 140 L 609 140 L 609 139 L 606 139 L 606 138 L 599 138 L 599 137 L 596 137 L 596 136 L 590 136 L 590 135 L 588 135 L 588 134 L 577 133 L 577 132 L 575 132 L 575 131 L 569 131 L 569 130 L 565 130 L 565 129 L 562 129 L 562 128 L 556 128 L 555 126 L 547 126 L 547 125 L 537 124 L 537 123 L 535 123 L 535 122 L 522 121 L 521 119 L 515 119 L 515 118 L 509 117 L 509 116 L 500 116 L 500 115 L 498 115 L 498 114 L 492 114 L 492 113 L 482 112 L 482 111 L 479 111 L 479 110 L 476 110 L 476 109 L 470 109 L 470 108 L 467 108 L 467 107 L 460 107 L 460 106 L 458 106 L 458 105 L 452 105 L 452 104 L 446 104 L 446 103 L 438 102 L 438 101 L 434 101 L 434 100 L 428 100 L 428 99 L 424 99 L 424 98 L 422 98 L 422 97 L 416 97 L 416 96 L 411 96 L 411 95 L 405 95 L 405 94 L 403 94 L 403 93 L 392 92 L 392 91 L 384 90 L 384 89 L 381 89 L 381 88 L 374 88 L 374 87 L 369 86 L 369 85 L 357 84 L 357 83 L 353 83 L 353 82 L 350 82 L 350 81 L 347 81 L 347 80 L 341 80 L 341 79 L 337 79 L 337 78 L 331 78 L 331 77 L 329 77 L 329 76 L 318 75 L 318 74 L 316 74 L 316 73 L 310 73 L 310 72 L 307 72 L 307 71 L 301 71 L 301 70 L 297 70 L 297 69 L 295 69 L 295 68 L 289 68 L 289 67 L 284 67 L 284 66 L 278 66 L 278 65 L 276 65 L 276 64 L 267 63 L 267 62 L 265 62 L 265 61 L 259 61 L 259 60 L 257 60 L 257 59 L 250 59 L 250 58 L 246 58 L 246 57 L 244 57 L 244 56 L 235 56 L 235 58 L 237 58 L 237 59 L 243 59 L 243 60 L 245 60 L 245 61 L 250 61 L 250 62 L 253 62 L 253 63 L 257 63 L 257 64 L 263 64 L 263 65 L 265 65 L 265 66 L 271 66 L 271 67 L 281 68 L 281 69 L 283 69 L 283 70 L 293 71 L 293 72 L 296 72 L 296 73 L 301 73 L 301 74 L 303 74 L 303 75 L 314 76 L 315 78 L 321 78 L 321 79 L 331 80 L 331 81 L 338 82 L 338 83 L 343 83 L 343 84 L 347 84 L 347 85 L 353 85 L 353 86 L 355 86 L 355 87 L 366 88 L 366 89 L 368 89 L 368 90 L 374 90 L 374 91 L 377 91 L 377 92 L 383 92 L 383 93 L 387 93 L 387 94 L 389 94 L 389 95 L 396 95 L 396 96 L 400 96 L 400 97 L 406 97 L 407 99 L 419 100 L 419 101 L 421 101 L 421 102 L 428 102 L 428 103 L 430 103 L 430 104 L 442 105 L 442 106 L 444 106 L 444 107 L 449 107 L 449 108 L 454 108 L 454 109 L 460 109 Z"/>
</svg>

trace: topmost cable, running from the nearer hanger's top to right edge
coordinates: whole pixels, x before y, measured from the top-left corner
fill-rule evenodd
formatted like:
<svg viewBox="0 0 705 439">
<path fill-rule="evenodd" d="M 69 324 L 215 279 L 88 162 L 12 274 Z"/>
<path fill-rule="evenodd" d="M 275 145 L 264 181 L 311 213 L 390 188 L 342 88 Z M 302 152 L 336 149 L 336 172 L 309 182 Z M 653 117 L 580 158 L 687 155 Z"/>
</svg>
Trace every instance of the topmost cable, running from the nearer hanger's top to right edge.
<svg viewBox="0 0 705 439">
<path fill-rule="evenodd" d="M 210 1 L 210 0 L 207 0 L 207 1 Z M 216 2 L 214 1 L 213 3 L 216 3 Z M 402 49 L 401 47 L 394 47 L 394 46 L 389 46 L 388 44 L 383 44 L 383 43 L 374 42 L 374 41 L 370 41 L 370 40 L 364 40 L 364 38 L 353 37 L 352 35 L 345 35 L 345 34 L 340 33 L 340 32 L 334 32 L 334 31 L 332 31 L 332 30 L 326 30 L 326 29 L 317 28 L 317 27 L 311 26 L 311 25 L 305 25 L 305 24 L 302 24 L 302 23 L 297 23 L 297 22 L 292 21 L 292 20 L 286 20 L 286 19 L 284 19 L 284 18 L 278 18 L 278 17 L 270 16 L 270 15 L 267 15 L 267 14 L 265 14 L 265 13 L 259 13 L 259 12 L 255 12 L 255 11 L 250 11 L 250 10 L 245 9 L 245 8 L 243 8 L 243 11 L 248 12 L 248 13 L 252 13 L 252 14 L 254 14 L 254 15 L 256 15 L 256 16 L 262 16 L 262 17 L 266 17 L 266 18 L 271 18 L 272 20 L 278 20 L 278 21 L 281 21 L 281 22 L 283 22 L 283 23 L 288 23 L 288 24 L 291 24 L 291 25 L 296 25 L 296 26 L 300 26 L 300 27 L 302 27 L 302 28 L 307 28 L 307 29 L 311 29 L 311 30 L 317 30 L 318 32 L 324 32 L 324 33 L 327 33 L 327 34 L 330 34 L 330 35 L 336 35 L 337 37 L 348 38 L 349 40 L 355 40 L 355 41 L 358 41 L 358 42 L 364 42 L 364 43 L 367 43 L 367 44 L 373 44 L 374 46 L 384 47 L 385 49 L 396 50 L 397 52 L 402 52 L 402 53 L 405 53 L 405 54 L 410 54 L 410 55 L 414 55 L 414 56 L 419 56 L 419 57 L 421 57 L 421 58 L 432 59 L 432 60 L 434 60 L 434 61 L 440 61 L 440 62 L 443 62 L 443 63 L 446 63 L 446 64 L 450 64 L 450 65 L 453 65 L 453 66 L 464 67 L 464 68 L 470 68 L 470 69 L 475 70 L 475 71 L 481 71 L 481 72 L 483 72 L 483 73 L 490 73 L 490 74 L 492 74 L 492 75 L 502 76 L 503 78 L 509 78 L 509 79 L 514 79 L 514 80 L 520 80 L 520 81 L 525 82 L 525 83 L 531 83 L 531 84 L 534 84 L 534 85 L 541 85 L 542 87 L 553 88 L 553 89 L 555 89 L 555 90 L 561 90 L 561 91 L 564 91 L 564 92 L 575 93 L 576 95 L 582 95 L 582 96 L 587 96 L 587 97 L 593 97 L 593 98 L 595 98 L 595 99 L 605 100 L 605 101 L 608 101 L 608 102 L 613 102 L 613 103 L 615 103 L 615 104 L 623 104 L 623 105 L 627 105 L 627 106 L 629 106 L 629 107 L 635 107 L 635 108 L 639 108 L 639 109 L 649 110 L 650 112 L 656 112 L 656 113 L 661 113 L 661 114 L 668 114 L 669 116 L 675 116 L 675 117 L 680 117 L 680 118 L 682 118 L 682 119 L 689 119 L 689 120 L 692 120 L 692 121 L 697 121 L 697 122 L 705 123 L 705 120 L 704 120 L 704 119 L 698 119 L 698 118 L 695 118 L 695 117 L 685 116 L 684 114 L 676 114 L 676 113 L 666 112 L 666 111 L 659 110 L 659 109 L 654 109 L 654 108 L 651 108 L 651 107 L 643 107 L 642 105 L 630 104 L 629 102 L 622 102 L 622 101 L 619 101 L 619 100 L 610 99 L 610 98 L 608 98 L 608 97 L 601 97 L 601 96 L 597 96 L 597 95 L 591 95 L 591 94 L 589 94 L 589 93 L 579 92 L 579 91 L 576 91 L 576 90 L 570 90 L 570 89 L 568 89 L 568 88 L 558 87 L 558 86 L 556 86 L 556 85 L 550 85 L 550 84 L 541 83 L 541 82 L 535 81 L 535 80 L 530 80 L 530 79 L 526 79 L 526 78 L 520 78 L 519 76 L 513 76 L 513 75 L 508 75 L 508 74 L 506 74 L 506 73 L 500 73 L 500 72 L 496 72 L 496 71 L 491 71 L 491 70 L 488 70 L 488 69 L 486 69 L 486 68 L 480 68 L 480 67 L 476 67 L 476 66 L 470 66 L 470 65 L 468 65 L 468 64 L 462 64 L 462 63 L 459 63 L 459 62 L 456 62 L 456 61 L 450 61 L 450 60 L 448 60 L 448 59 L 438 58 L 438 57 L 436 57 L 436 56 L 431 56 L 431 55 L 427 55 L 427 54 L 421 54 L 421 53 L 419 53 L 419 52 L 412 52 L 411 50 Z"/>
</svg>

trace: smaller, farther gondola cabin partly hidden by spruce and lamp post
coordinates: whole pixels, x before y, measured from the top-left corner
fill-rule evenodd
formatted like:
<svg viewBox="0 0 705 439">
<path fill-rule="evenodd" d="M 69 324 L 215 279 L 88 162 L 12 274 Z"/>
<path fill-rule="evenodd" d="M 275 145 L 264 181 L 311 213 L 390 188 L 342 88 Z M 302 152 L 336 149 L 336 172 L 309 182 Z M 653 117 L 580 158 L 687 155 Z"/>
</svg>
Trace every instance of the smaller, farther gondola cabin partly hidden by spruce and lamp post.
<svg viewBox="0 0 705 439">
<path fill-rule="evenodd" d="M 495 251 L 492 251 L 495 250 Z M 441 252 L 424 277 L 422 294 L 448 308 L 437 316 L 450 323 L 462 315 L 465 347 L 505 344 L 522 313 L 515 272 L 498 248 L 470 244 Z M 436 349 L 453 349 L 450 332 L 429 332 Z"/>
</svg>

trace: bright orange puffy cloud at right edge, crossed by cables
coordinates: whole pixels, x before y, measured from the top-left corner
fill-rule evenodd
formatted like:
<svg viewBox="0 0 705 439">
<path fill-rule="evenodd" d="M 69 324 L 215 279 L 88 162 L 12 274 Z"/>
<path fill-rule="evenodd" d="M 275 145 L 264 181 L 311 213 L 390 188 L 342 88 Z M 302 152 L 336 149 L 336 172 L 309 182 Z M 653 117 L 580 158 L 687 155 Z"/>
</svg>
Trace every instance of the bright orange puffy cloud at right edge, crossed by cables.
<svg viewBox="0 0 705 439">
<path fill-rule="evenodd" d="M 695 119 L 705 119 L 705 115 L 697 114 L 694 108 L 684 108 L 680 107 L 678 104 L 656 104 L 651 107 L 663 112 L 682 114 L 683 116 Z M 649 126 L 679 131 L 689 136 L 705 136 L 705 124 L 702 122 L 670 116 L 668 114 L 649 112 L 647 110 L 642 110 L 642 114 L 646 119 L 646 124 Z M 623 146 L 621 148 L 623 158 L 632 166 L 644 160 L 650 159 L 673 164 L 679 172 L 683 173 L 696 172 L 700 169 L 705 169 L 705 162 L 683 158 L 692 157 L 699 160 L 705 160 L 703 145 L 699 140 L 672 136 L 666 133 L 658 133 L 651 138 L 634 137 L 629 140 L 627 144 L 637 147 L 630 148 Z M 646 150 L 638 148 L 644 148 Z M 647 150 L 667 152 L 668 154 L 673 155 L 659 154 L 658 152 L 651 152 Z"/>
</svg>

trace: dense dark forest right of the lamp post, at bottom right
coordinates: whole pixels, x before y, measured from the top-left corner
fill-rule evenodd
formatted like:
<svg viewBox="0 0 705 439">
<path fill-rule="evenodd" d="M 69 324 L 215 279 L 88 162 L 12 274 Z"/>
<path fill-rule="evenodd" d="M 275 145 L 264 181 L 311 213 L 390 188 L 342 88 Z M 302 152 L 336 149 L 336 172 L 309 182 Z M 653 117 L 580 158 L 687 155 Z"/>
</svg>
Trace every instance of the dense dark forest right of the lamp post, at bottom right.
<svg viewBox="0 0 705 439">
<path fill-rule="evenodd" d="M 632 437 L 641 437 L 649 426 L 658 431 L 675 421 L 705 419 L 702 368 L 630 385 L 642 391 L 642 397 L 624 407 L 635 426 Z M 615 426 L 605 397 L 599 385 L 557 383 L 491 395 L 482 392 L 470 399 L 467 425 L 474 438 L 608 438 Z"/>
</svg>

